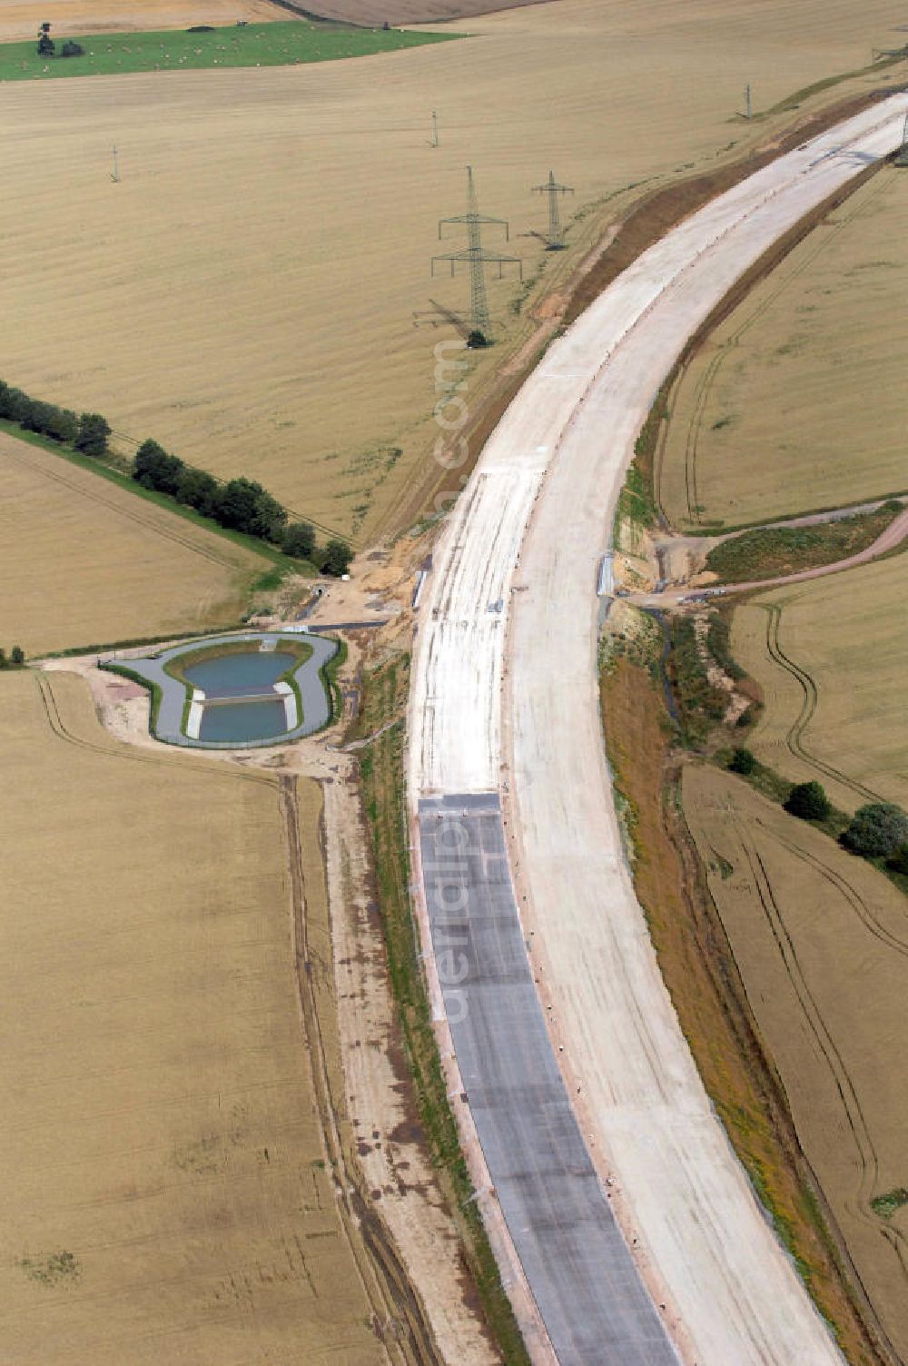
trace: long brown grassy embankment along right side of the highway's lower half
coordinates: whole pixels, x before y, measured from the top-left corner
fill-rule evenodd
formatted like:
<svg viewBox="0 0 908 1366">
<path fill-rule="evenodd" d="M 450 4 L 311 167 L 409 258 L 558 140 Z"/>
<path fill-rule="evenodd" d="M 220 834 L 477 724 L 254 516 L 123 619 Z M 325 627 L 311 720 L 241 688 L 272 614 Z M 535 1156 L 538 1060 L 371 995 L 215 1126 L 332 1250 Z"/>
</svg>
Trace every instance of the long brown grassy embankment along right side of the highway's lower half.
<svg viewBox="0 0 908 1366">
<path fill-rule="evenodd" d="M 681 770 L 670 753 L 659 693 L 644 668 L 623 658 L 604 678 L 602 702 L 616 788 L 627 802 L 636 892 L 703 1083 L 848 1361 L 890 1363 L 882 1336 L 867 1326 L 874 1325 L 872 1311 L 801 1153 L 675 800 Z"/>
</svg>

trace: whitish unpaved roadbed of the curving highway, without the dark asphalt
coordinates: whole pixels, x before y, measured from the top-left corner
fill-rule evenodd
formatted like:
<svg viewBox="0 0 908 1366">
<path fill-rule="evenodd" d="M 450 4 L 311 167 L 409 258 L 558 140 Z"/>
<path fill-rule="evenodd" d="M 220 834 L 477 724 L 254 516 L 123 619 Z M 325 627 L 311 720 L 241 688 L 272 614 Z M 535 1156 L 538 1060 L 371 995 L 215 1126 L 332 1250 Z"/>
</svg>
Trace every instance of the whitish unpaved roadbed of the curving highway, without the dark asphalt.
<svg viewBox="0 0 908 1366">
<path fill-rule="evenodd" d="M 687 337 L 776 238 L 898 145 L 907 111 L 908 94 L 894 96 L 781 157 L 597 299 L 487 443 L 419 608 L 415 866 L 421 798 L 500 794 L 516 906 L 568 1091 L 599 1179 L 620 1193 L 640 1274 L 696 1366 L 841 1358 L 711 1111 L 634 895 L 599 725 L 597 567 L 634 440 Z M 418 912 L 441 1011 L 425 903 Z M 444 1019 L 440 1030 L 451 1046 Z M 456 1076 L 456 1059 L 449 1068 Z M 460 1116 L 474 1176 L 487 1184 Z M 527 1128 L 537 1121 L 528 1105 Z M 483 1208 L 512 1265 L 507 1212 Z M 543 1227 L 538 1236 L 543 1251 Z M 523 1270 L 533 1292 L 539 1270 Z M 535 1307 L 516 1303 L 527 1321 Z"/>
</svg>

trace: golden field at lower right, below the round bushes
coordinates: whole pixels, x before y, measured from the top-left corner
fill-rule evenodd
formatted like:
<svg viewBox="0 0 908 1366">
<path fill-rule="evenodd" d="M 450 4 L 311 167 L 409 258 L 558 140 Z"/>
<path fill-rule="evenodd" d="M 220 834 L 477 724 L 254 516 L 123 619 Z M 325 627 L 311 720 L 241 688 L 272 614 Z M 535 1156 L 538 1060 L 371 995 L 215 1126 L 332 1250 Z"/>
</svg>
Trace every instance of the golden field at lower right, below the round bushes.
<svg viewBox="0 0 908 1366">
<path fill-rule="evenodd" d="M 896 1193 L 908 1186 L 904 896 L 715 769 L 685 770 L 684 809 L 801 1146 L 903 1359 L 908 1206 L 896 1208 Z"/>
</svg>

